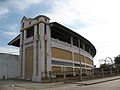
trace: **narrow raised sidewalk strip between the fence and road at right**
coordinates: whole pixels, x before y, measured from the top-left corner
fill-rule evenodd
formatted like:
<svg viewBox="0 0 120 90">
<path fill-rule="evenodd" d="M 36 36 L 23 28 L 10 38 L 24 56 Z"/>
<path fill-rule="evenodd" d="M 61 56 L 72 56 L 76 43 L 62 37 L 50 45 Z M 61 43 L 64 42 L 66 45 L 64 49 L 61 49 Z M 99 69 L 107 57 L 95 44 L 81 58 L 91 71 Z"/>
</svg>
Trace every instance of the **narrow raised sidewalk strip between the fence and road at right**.
<svg viewBox="0 0 120 90">
<path fill-rule="evenodd" d="M 74 82 L 74 84 L 79 84 L 79 86 L 81 86 L 81 85 L 93 85 L 93 84 L 113 81 L 113 80 L 117 80 L 117 79 L 120 79 L 120 76 L 114 76 L 114 77 L 108 77 L 108 78 L 102 78 L 102 79 L 94 79 L 94 80 L 81 81 L 81 82 Z"/>
</svg>

